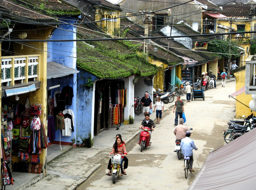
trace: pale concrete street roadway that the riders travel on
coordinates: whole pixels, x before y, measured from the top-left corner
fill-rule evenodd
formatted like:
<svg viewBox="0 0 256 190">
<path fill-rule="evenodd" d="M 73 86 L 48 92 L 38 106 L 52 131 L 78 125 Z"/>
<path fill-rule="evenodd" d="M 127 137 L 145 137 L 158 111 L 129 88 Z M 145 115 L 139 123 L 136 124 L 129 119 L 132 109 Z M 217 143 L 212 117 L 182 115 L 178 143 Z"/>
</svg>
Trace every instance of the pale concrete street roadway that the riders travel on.
<svg viewBox="0 0 256 190">
<path fill-rule="evenodd" d="M 234 118 L 235 100 L 228 98 L 235 92 L 235 81 L 228 82 L 226 87 L 205 91 L 205 101 L 196 99 L 186 103 L 186 96 L 182 96 L 188 128 L 193 128 L 191 138 L 198 150 L 194 151 L 195 172 L 189 173 L 185 179 L 183 159 L 178 160 L 174 151 L 175 136 L 173 134 L 173 108 L 165 112 L 161 124 L 157 124 L 152 133 L 152 146 L 140 152 L 137 137 L 127 146 L 129 166 L 127 175 L 118 178 L 116 184 L 107 173 L 108 157 L 93 175 L 91 175 L 78 189 L 187 189 L 202 167 L 209 151 L 225 145 L 223 129 L 227 121 Z M 171 104 L 174 104 L 171 103 Z M 155 114 L 151 116 L 154 119 Z M 112 146 L 112 145 L 109 145 Z"/>
</svg>

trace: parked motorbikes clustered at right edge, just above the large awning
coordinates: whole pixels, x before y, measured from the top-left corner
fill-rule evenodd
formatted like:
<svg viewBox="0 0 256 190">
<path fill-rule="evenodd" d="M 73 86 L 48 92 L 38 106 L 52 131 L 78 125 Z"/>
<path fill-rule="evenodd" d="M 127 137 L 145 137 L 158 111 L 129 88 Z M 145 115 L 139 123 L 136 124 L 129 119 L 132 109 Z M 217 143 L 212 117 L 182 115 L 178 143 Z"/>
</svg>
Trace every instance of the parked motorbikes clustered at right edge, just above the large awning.
<svg viewBox="0 0 256 190">
<path fill-rule="evenodd" d="M 228 125 L 228 129 L 224 130 L 223 134 L 226 143 L 229 143 L 230 141 L 233 141 L 238 137 L 242 136 L 243 134 L 254 129 L 256 126 L 256 117 L 252 113 L 251 115 L 246 117 L 244 121 L 233 120 L 229 121 Z"/>
</svg>

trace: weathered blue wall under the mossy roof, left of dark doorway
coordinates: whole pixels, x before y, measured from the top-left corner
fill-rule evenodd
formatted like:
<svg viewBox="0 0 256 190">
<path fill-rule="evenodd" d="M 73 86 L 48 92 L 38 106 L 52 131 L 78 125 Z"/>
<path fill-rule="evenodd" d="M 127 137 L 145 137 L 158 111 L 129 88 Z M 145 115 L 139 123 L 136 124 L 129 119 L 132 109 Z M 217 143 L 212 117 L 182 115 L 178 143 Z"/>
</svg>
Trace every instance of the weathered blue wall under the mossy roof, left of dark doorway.
<svg viewBox="0 0 256 190">
<path fill-rule="evenodd" d="M 77 75 L 77 145 L 92 147 L 94 127 L 94 93 L 93 87 L 84 87 L 89 77 L 92 81 L 98 78 L 84 70 L 78 69 Z M 94 82 L 95 85 L 95 82 Z"/>
</svg>

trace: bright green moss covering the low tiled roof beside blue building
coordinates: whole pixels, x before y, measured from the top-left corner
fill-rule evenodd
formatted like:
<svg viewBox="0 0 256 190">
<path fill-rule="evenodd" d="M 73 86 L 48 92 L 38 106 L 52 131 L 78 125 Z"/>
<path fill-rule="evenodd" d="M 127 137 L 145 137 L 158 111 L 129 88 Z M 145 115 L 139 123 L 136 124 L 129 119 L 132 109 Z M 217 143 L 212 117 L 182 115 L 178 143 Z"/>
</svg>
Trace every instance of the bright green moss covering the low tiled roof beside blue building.
<svg viewBox="0 0 256 190">
<path fill-rule="evenodd" d="M 148 63 L 135 52 L 121 53 L 117 48 L 110 49 L 103 44 L 105 43 L 94 43 L 97 46 L 92 48 L 84 42 L 77 42 L 77 67 L 102 79 L 124 78 L 134 74 L 150 76 L 157 73 L 156 65 Z"/>
</svg>

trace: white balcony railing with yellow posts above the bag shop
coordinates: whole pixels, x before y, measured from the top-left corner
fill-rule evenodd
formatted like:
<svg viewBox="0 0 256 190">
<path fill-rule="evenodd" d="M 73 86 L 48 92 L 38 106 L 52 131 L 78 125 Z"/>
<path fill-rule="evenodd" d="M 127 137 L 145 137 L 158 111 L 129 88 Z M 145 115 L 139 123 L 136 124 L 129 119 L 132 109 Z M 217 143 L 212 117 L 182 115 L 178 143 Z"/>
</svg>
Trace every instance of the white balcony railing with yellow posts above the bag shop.
<svg viewBox="0 0 256 190">
<path fill-rule="evenodd" d="M 14 86 L 15 83 L 28 83 L 29 78 L 35 81 L 38 77 L 40 55 L 3 56 L 1 60 L 2 83 Z"/>
</svg>

